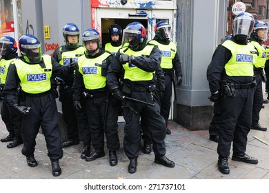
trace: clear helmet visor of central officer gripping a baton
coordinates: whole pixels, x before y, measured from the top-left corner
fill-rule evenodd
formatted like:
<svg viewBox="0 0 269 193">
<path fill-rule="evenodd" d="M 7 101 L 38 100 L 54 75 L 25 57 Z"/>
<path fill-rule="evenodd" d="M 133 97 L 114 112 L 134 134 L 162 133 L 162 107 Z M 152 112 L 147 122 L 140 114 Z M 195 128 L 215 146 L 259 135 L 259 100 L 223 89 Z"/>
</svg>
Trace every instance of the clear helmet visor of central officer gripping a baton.
<svg viewBox="0 0 269 193">
<path fill-rule="evenodd" d="M 129 45 L 130 48 L 137 48 L 139 45 L 138 36 L 141 32 L 137 30 L 123 30 L 121 45 Z"/>
</svg>

